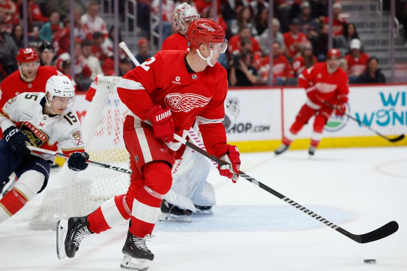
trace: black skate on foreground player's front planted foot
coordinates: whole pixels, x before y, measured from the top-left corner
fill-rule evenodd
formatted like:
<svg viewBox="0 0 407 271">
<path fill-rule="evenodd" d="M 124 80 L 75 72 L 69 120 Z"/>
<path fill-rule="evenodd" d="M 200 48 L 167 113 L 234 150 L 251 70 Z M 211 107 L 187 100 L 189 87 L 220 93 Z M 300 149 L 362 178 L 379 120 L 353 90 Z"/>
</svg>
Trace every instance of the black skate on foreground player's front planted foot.
<svg viewBox="0 0 407 271">
<path fill-rule="evenodd" d="M 140 238 L 130 231 L 127 232 L 126 242 L 122 249 L 124 257 L 120 265 L 121 268 L 139 271 L 149 269 L 151 261 L 154 260 L 154 254 L 146 245 L 148 238 L 151 238 L 149 234 Z"/>
</svg>

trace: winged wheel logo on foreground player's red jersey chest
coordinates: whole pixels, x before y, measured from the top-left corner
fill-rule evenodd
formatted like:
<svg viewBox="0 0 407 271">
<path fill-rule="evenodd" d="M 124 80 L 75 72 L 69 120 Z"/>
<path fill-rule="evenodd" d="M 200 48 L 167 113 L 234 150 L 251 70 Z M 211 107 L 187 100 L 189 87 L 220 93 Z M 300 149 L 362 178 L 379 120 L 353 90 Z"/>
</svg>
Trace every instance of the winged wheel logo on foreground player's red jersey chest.
<svg viewBox="0 0 407 271">
<path fill-rule="evenodd" d="M 211 101 L 211 98 L 192 93 L 171 93 L 165 96 L 165 104 L 173 112 L 189 112 L 194 108 L 206 106 Z"/>
</svg>

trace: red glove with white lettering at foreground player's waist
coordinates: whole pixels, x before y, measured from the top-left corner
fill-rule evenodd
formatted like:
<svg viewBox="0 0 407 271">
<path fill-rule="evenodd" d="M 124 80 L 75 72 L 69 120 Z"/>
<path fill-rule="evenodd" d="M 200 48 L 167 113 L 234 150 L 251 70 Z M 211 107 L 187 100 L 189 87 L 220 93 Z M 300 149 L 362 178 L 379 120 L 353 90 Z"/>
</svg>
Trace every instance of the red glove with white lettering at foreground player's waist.
<svg viewBox="0 0 407 271">
<path fill-rule="evenodd" d="M 154 136 L 161 138 L 165 142 L 174 139 L 174 122 L 172 121 L 171 110 L 155 105 L 146 113 L 147 119 L 153 124 Z"/>
</svg>

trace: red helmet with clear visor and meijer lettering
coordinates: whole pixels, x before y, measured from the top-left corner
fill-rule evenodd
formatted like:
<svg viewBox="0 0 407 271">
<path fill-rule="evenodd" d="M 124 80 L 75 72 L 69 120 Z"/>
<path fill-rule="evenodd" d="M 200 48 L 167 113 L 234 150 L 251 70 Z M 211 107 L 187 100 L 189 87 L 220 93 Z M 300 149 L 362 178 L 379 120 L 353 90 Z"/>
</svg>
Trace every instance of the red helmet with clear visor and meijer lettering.
<svg viewBox="0 0 407 271">
<path fill-rule="evenodd" d="M 187 31 L 188 47 L 192 49 L 198 49 L 201 43 L 208 44 L 210 49 L 215 49 L 215 44 L 223 44 L 225 41 L 225 31 L 219 23 L 207 19 L 201 18 L 193 20 L 188 27 Z M 227 44 L 226 44 L 227 45 Z M 225 52 L 226 48 L 220 48 Z M 227 47 L 227 46 L 226 46 Z"/>
</svg>

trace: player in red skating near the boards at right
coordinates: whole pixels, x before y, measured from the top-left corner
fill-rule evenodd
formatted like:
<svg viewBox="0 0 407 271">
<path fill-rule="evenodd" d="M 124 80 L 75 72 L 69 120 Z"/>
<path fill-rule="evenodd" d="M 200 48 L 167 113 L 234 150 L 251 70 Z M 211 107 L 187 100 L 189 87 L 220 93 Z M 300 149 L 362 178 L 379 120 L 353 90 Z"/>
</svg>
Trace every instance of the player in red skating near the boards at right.
<svg viewBox="0 0 407 271">
<path fill-rule="evenodd" d="M 311 145 L 308 150 L 310 155 L 314 155 L 331 114 L 334 111 L 336 115 L 345 113 L 345 103 L 349 93 L 348 77 L 339 68 L 339 59 L 340 51 L 336 48 L 330 49 L 327 53 L 327 62 L 315 64 L 304 70 L 298 77 L 298 84 L 307 92 L 307 101 L 301 107 L 293 125 L 285 133 L 282 145 L 275 151 L 276 155 L 288 149 L 294 137 L 315 115 Z M 334 108 L 330 105 L 334 105 Z"/>
</svg>

